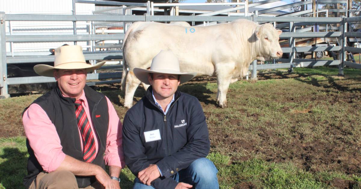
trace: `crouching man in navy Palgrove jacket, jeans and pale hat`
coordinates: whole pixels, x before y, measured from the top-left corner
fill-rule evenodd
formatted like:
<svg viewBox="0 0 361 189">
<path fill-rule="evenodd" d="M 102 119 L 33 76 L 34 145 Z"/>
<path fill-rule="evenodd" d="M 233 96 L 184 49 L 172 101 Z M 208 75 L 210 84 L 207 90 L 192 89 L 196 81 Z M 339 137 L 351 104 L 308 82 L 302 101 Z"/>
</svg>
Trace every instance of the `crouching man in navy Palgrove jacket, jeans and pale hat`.
<svg viewBox="0 0 361 189">
<path fill-rule="evenodd" d="M 180 72 L 177 57 L 164 50 L 150 70 L 133 71 L 151 85 L 123 121 L 124 156 L 136 176 L 134 189 L 218 188 L 217 168 L 205 158 L 210 142 L 203 109 L 197 98 L 177 90 L 196 73 Z"/>
</svg>

